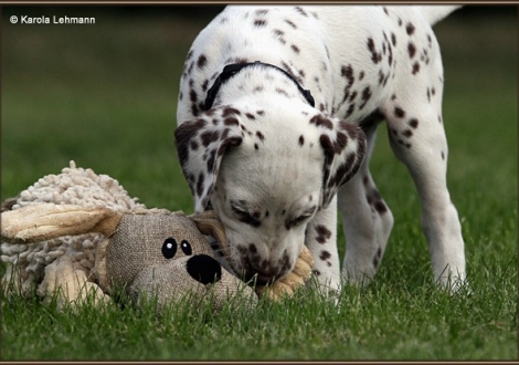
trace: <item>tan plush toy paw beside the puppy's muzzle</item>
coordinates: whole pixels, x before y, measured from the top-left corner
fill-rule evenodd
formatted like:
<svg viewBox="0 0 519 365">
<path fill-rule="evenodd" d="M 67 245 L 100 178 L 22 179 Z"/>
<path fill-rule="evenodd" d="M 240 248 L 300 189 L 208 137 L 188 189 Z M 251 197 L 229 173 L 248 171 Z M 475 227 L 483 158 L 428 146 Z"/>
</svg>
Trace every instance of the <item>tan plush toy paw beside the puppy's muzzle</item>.
<svg viewBox="0 0 519 365">
<path fill-rule="evenodd" d="M 256 286 L 256 292 L 261 296 L 265 296 L 272 301 L 277 301 L 285 295 L 290 296 L 310 279 L 313 265 L 314 258 L 306 246 L 304 246 L 296 265 L 289 274 L 275 281 L 271 285 Z"/>
</svg>

